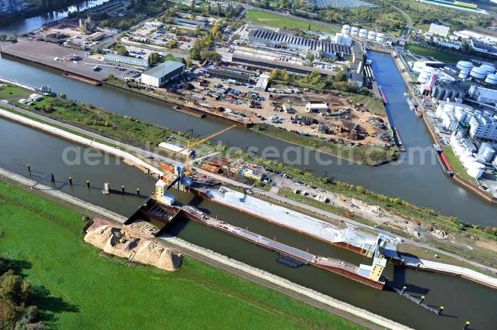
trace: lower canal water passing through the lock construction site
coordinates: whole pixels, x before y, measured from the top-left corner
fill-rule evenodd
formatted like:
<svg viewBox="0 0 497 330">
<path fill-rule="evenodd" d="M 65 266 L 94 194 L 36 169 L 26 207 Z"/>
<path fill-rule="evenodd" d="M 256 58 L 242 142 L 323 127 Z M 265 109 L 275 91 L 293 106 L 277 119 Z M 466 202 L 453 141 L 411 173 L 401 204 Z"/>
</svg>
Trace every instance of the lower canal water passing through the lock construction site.
<svg viewBox="0 0 497 330">
<path fill-rule="evenodd" d="M 109 182 L 114 188 L 124 185 L 130 192 L 139 187 L 143 194 L 154 189 L 155 180 L 127 164 L 116 164 L 113 157 L 90 157 L 94 162 L 90 165 L 83 161 L 86 148 L 3 119 L 0 119 L 0 139 L 1 167 L 26 177 L 29 177 L 27 164 L 31 165 L 33 171 L 44 174 L 52 172 L 56 183 L 46 183 L 47 185 L 125 216 L 132 214 L 145 199 L 103 195 L 101 189 L 104 182 Z M 13 145 L 16 147 L 13 148 Z M 91 152 L 93 153 L 95 152 Z M 81 163 L 76 155 L 81 155 Z M 67 185 L 69 176 L 73 178 L 72 186 Z M 33 176 L 33 179 L 36 177 Z M 85 185 L 86 180 L 90 180 L 90 189 Z M 190 203 L 211 216 L 218 216 L 219 219 L 240 227 L 248 227 L 249 230 L 270 238 L 276 237 L 282 243 L 301 249 L 309 248 L 311 253 L 354 264 L 371 263 L 370 259 L 352 252 L 221 205 L 193 198 L 182 192 L 173 193 L 177 200 Z M 427 304 L 444 306 L 445 315 L 437 317 L 389 290 L 372 289 L 311 266 L 289 268 L 276 263 L 275 253 L 193 221 L 180 220 L 171 227 L 169 233 L 415 329 L 459 329 L 467 320 L 471 322 L 471 329 L 475 330 L 491 330 L 495 326 L 492 312 L 493 302 L 497 301 L 497 291 L 458 277 L 394 268 L 391 265 L 387 267 L 385 274 L 396 287 L 405 285 L 408 287 L 407 291 L 414 296 L 426 296 Z"/>
</svg>

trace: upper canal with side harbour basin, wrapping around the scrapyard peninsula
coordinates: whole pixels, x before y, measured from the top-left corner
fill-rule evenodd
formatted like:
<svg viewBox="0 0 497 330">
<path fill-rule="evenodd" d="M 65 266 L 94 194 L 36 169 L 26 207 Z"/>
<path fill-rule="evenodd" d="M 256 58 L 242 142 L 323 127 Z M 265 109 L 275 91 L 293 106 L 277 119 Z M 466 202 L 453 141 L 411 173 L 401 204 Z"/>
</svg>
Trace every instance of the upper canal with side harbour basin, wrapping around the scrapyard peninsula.
<svg viewBox="0 0 497 330">
<path fill-rule="evenodd" d="M 318 177 L 327 171 L 328 175 L 342 182 L 362 185 L 376 193 L 401 198 L 465 221 L 495 226 L 496 205 L 463 189 L 443 174 L 436 162 L 431 147 L 433 142 L 427 129 L 422 120 L 415 118 L 404 100 L 403 94 L 407 89 L 392 58 L 378 53 L 370 53 L 369 58 L 373 60 L 375 75 L 387 95 L 387 110 L 390 112 L 392 125 L 399 130 L 408 151 L 401 154 L 399 161 L 376 167 L 350 164 L 308 149 L 301 152 L 301 155 L 308 154 L 308 160 L 304 156 L 295 157 L 293 152 L 289 153 L 288 158 L 291 161 L 298 159 L 298 164 L 294 166 L 304 168 L 307 165 L 307 171 Z M 225 124 L 214 120 L 195 118 L 153 101 L 107 87 L 85 84 L 21 62 L 0 59 L 0 75 L 35 86 L 51 85 L 53 90 L 65 93 L 69 98 L 174 130 L 186 132 L 192 129 L 198 136 L 226 127 Z M 232 147 L 255 147 L 259 150 L 258 155 L 267 146 L 276 148 L 281 154 L 287 148 L 294 147 L 289 143 L 241 128 L 223 133 L 219 138 Z M 278 161 L 282 159 L 275 158 Z"/>
</svg>

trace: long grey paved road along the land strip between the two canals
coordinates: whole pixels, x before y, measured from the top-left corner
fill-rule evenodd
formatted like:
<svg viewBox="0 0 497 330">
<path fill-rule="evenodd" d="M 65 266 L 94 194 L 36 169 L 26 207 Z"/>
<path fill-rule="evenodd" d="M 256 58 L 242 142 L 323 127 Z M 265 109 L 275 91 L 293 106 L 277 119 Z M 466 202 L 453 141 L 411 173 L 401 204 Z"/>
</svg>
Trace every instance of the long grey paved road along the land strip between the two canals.
<svg viewBox="0 0 497 330">
<path fill-rule="evenodd" d="M 126 144 L 126 143 L 123 143 L 123 142 L 120 142 L 120 141 L 117 141 L 117 140 L 114 140 L 114 139 L 102 136 L 102 135 L 97 134 L 97 133 L 88 132 L 88 131 L 86 131 L 84 129 L 81 129 L 79 127 L 76 127 L 76 126 L 73 126 L 73 125 L 70 125 L 70 124 L 58 122 L 56 120 L 53 120 L 53 119 L 50 119 L 50 118 L 38 115 L 36 113 L 33 113 L 33 112 L 30 112 L 30 111 L 18 108 L 16 106 L 5 104 L 2 101 L 0 101 L 0 105 L 5 106 L 5 107 L 10 108 L 10 109 L 14 109 L 14 110 L 19 111 L 19 112 L 21 112 L 23 114 L 26 114 L 26 115 L 29 115 L 29 116 L 32 116 L 32 117 L 35 117 L 35 118 L 38 118 L 38 119 L 42 119 L 42 120 L 47 121 L 49 123 L 65 127 L 65 128 L 67 128 L 69 130 L 73 130 L 73 131 L 76 131 L 76 132 L 80 132 L 80 133 L 89 135 L 89 136 L 94 137 L 94 138 L 98 138 L 98 139 L 103 140 L 103 141 L 105 141 L 107 143 L 112 143 L 112 144 L 115 144 L 115 145 L 127 148 L 127 149 L 135 151 L 135 152 L 137 152 L 139 154 L 145 154 L 146 153 L 147 155 L 150 155 L 150 156 L 154 157 L 155 160 L 160 160 L 162 162 L 169 163 L 169 164 L 174 164 L 174 165 L 184 165 L 181 162 L 178 162 L 176 160 L 164 157 L 164 156 L 159 155 L 157 153 L 149 152 L 149 151 L 143 150 L 141 148 L 138 148 L 136 146 L 133 146 L 133 145 L 130 145 L 130 144 Z M 208 157 L 208 156 L 210 156 L 210 155 L 207 155 L 206 157 Z M 226 183 L 229 183 L 229 184 L 234 185 L 234 186 L 241 186 L 241 187 L 244 187 L 244 188 L 251 189 L 252 191 L 254 191 L 256 193 L 259 193 L 259 194 L 262 194 L 262 195 L 266 195 L 266 196 L 268 196 L 270 198 L 274 198 L 276 200 L 280 200 L 280 201 L 286 202 L 286 203 L 288 203 L 290 205 L 294 205 L 294 206 L 306 208 L 306 209 L 314 211 L 314 212 L 316 212 L 318 214 L 327 216 L 327 217 L 329 217 L 331 219 L 335 219 L 335 220 L 338 220 L 338 221 L 347 222 L 347 223 L 356 225 L 358 227 L 365 228 L 365 229 L 371 230 L 373 232 L 381 232 L 381 233 L 387 234 L 389 236 L 392 236 L 392 235 L 394 235 L 394 236 L 400 236 L 398 234 L 392 234 L 392 233 L 390 233 L 388 231 L 385 231 L 385 230 L 382 230 L 382 229 L 379 229 L 379 228 L 373 228 L 373 227 L 364 225 L 364 224 L 362 224 L 360 222 L 356 222 L 356 221 L 353 221 L 353 220 L 351 220 L 349 218 L 345 218 L 343 216 L 340 216 L 340 215 L 337 215 L 337 214 L 334 214 L 334 213 L 331 213 L 331 212 L 324 211 L 324 210 L 322 210 L 320 208 L 317 208 L 317 207 L 313 207 L 313 206 L 310 206 L 310 205 L 304 205 L 304 204 L 301 204 L 301 203 L 299 203 L 297 201 L 294 201 L 292 199 L 288 199 L 288 198 L 284 198 L 284 197 L 278 196 L 277 193 L 274 193 L 274 192 L 271 192 L 271 191 L 266 192 L 266 191 L 263 191 L 263 190 L 260 190 L 260 189 L 257 189 L 257 188 L 253 188 L 252 186 L 248 186 L 246 184 L 242 184 L 242 183 L 240 183 L 238 181 L 235 181 L 235 180 L 232 180 L 232 179 L 229 179 L 229 178 L 225 178 L 225 177 L 223 177 L 221 175 L 217 175 L 217 174 L 214 174 L 214 173 L 211 173 L 211 172 L 208 172 L 208 171 L 204 171 L 204 170 L 202 170 L 200 168 L 195 168 L 195 169 L 196 169 L 196 171 L 198 173 L 205 174 L 207 176 L 213 177 L 214 179 L 219 180 L 221 182 L 226 182 Z M 421 247 L 423 249 L 429 249 L 429 250 L 434 251 L 436 253 L 444 254 L 444 255 L 456 258 L 458 260 L 462 260 L 462 261 L 464 261 L 464 262 L 466 262 L 468 264 L 475 265 L 475 266 L 477 266 L 477 267 L 479 267 L 481 269 L 484 269 L 486 271 L 492 271 L 494 273 L 497 273 L 497 269 L 496 268 L 492 268 L 492 267 L 489 267 L 489 266 L 484 266 L 482 264 L 478 264 L 478 263 L 473 262 L 471 260 L 467 260 L 465 258 L 462 258 L 462 257 L 460 257 L 458 255 L 455 255 L 455 254 L 452 254 L 452 253 L 449 253 L 449 252 L 446 252 L 446 251 L 442 251 L 442 250 L 430 247 L 427 244 L 416 242 L 416 241 L 414 241 L 412 239 L 409 239 L 409 238 L 406 238 L 406 237 L 402 237 L 402 239 L 406 243 L 408 243 L 408 244 L 411 244 L 411 245 L 414 245 L 414 246 L 417 246 L 417 247 Z"/>
</svg>

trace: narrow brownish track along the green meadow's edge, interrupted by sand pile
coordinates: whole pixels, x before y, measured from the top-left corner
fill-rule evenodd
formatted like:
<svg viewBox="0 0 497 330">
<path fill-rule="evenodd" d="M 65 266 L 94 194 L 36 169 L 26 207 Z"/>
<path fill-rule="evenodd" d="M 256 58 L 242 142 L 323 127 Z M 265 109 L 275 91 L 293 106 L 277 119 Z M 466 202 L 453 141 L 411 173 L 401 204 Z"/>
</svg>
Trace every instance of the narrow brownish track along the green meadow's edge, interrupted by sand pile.
<svg viewBox="0 0 497 330">
<path fill-rule="evenodd" d="M 61 200 L 59 198 L 55 198 L 55 197 L 46 195 L 42 191 L 29 189 L 28 187 L 26 187 L 24 185 L 20 185 L 18 182 L 13 181 L 11 179 L 0 177 L 0 180 L 3 181 L 3 182 L 6 182 L 8 184 L 11 184 L 11 185 L 14 185 L 14 186 L 18 186 L 19 188 L 24 189 L 24 190 L 26 190 L 26 191 L 28 191 L 30 193 L 36 194 L 36 195 L 38 195 L 40 197 L 47 198 L 47 199 L 49 199 L 49 200 L 51 200 L 53 202 L 56 202 L 59 205 L 63 205 L 63 206 L 69 207 L 69 208 L 71 208 L 71 209 L 73 209 L 73 210 L 75 210 L 77 212 L 89 215 L 89 216 L 94 217 L 94 218 L 101 218 L 101 215 L 99 215 L 99 214 L 95 214 L 93 212 L 88 211 L 87 209 L 83 209 L 83 208 L 81 208 L 79 206 L 76 206 L 76 205 L 71 204 L 69 202 L 66 202 L 64 200 Z M 228 272 L 230 272 L 232 274 L 235 274 L 235 275 L 238 275 L 238 276 L 243 277 L 245 279 L 248 279 L 249 281 L 252 281 L 254 283 L 260 284 L 260 285 L 262 285 L 262 286 L 264 286 L 266 288 L 269 288 L 269 289 L 272 289 L 272 290 L 276 290 L 276 291 L 278 291 L 280 293 L 283 293 L 283 294 L 285 294 L 287 296 L 290 296 L 290 297 L 292 297 L 294 299 L 300 300 L 300 301 L 302 301 L 304 303 L 307 303 L 307 304 L 309 304 L 311 306 L 314 306 L 314 307 L 320 308 L 322 310 L 328 311 L 328 312 L 330 312 L 330 313 L 332 313 L 334 315 L 337 315 L 337 316 L 340 316 L 340 317 L 342 317 L 344 319 L 347 319 L 349 321 L 355 322 L 355 323 L 357 323 L 359 325 L 362 325 L 362 326 L 364 326 L 366 328 L 373 329 L 373 330 L 382 330 L 382 329 L 384 329 L 384 328 L 379 328 L 377 326 L 374 326 L 374 325 L 370 324 L 369 322 L 366 322 L 366 321 L 364 321 L 362 319 L 358 319 L 356 317 L 353 317 L 353 316 L 351 316 L 348 313 L 345 313 L 345 312 L 340 311 L 340 310 L 336 310 L 334 308 L 331 308 L 328 305 L 319 303 L 316 300 L 304 297 L 304 296 L 302 296 L 302 295 L 300 295 L 300 294 L 298 294 L 298 293 L 296 293 L 294 291 L 291 291 L 289 289 L 282 288 L 281 286 L 277 286 L 275 284 L 269 283 L 269 282 L 267 282 L 267 281 L 265 281 L 263 279 L 260 279 L 259 277 L 251 275 L 249 273 L 246 273 L 246 272 L 244 272 L 242 270 L 234 269 L 234 268 L 232 268 L 232 267 L 230 267 L 228 265 L 221 264 L 219 262 L 216 262 L 215 260 L 209 259 L 209 258 L 207 258 L 205 256 L 202 256 L 202 255 L 200 255 L 198 253 L 195 253 L 193 251 L 180 248 L 180 247 L 178 247 L 176 245 L 172 245 L 172 244 L 166 242 L 165 240 L 159 240 L 159 239 L 154 239 L 154 240 L 157 243 L 159 243 L 159 244 L 167 246 L 168 248 L 171 248 L 171 249 L 174 249 L 174 250 L 178 250 L 179 252 L 183 253 L 186 256 L 189 256 L 189 257 L 194 258 L 196 260 L 202 261 L 202 262 L 204 262 L 206 264 L 209 264 L 211 266 L 214 266 L 214 267 L 226 270 L 226 271 L 228 271 Z"/>
</svg>

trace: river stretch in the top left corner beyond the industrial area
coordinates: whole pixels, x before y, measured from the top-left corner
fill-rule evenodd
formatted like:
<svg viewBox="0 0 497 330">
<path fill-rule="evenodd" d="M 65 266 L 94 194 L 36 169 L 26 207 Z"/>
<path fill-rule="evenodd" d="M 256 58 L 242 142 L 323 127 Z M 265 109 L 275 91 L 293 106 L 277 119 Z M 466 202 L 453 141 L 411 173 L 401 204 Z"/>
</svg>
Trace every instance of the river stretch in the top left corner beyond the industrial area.
<svg viewBox="0 0 497 330">
<path fill-rule="evenodd" d="M 72 11 L 82 11 L 86 8 L 99 5 L 105 1 L 107 0 L 86 0 L 59 10 L 47 12 L 43 15 L 26 18 L 24 20 L 16 20 L 9 25 L 0 26 L 0 33 L 6 33 L 10 35 L 12 34 L 12 31 L 16 31 L 17 34 L 21 35 L 26 32 L 33 31 L 41 27 L 45 23 L 50 23 L 65 18 L 67 17 L 68 13 Z"/>
</svg>

